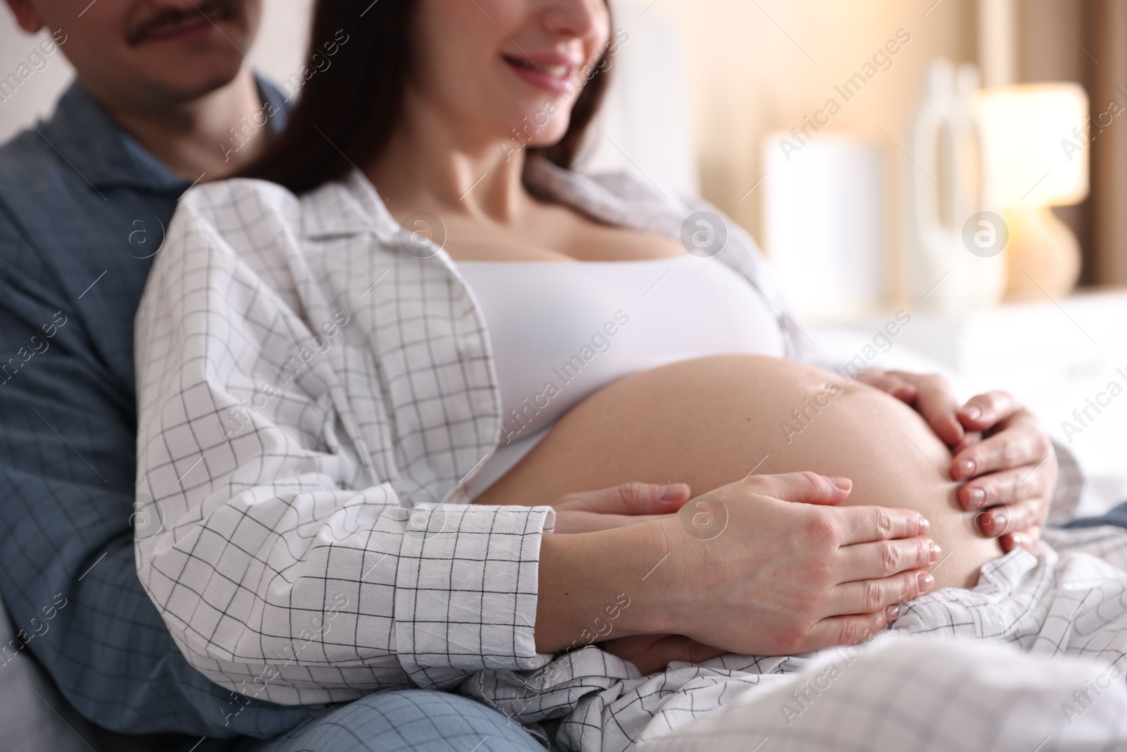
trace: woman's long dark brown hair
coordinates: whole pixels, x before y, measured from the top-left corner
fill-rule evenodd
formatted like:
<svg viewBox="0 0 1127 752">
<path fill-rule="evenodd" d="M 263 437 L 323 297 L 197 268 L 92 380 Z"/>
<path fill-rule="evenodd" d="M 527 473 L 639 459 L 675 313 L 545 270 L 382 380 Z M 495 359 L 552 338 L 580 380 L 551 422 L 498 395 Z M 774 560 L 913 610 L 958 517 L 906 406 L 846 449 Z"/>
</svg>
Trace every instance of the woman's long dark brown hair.
<svg viewBox="0 0 1127 752">
<path fill-rule="evenodd" d="M 282 133 L 240 175 L 301 193 L 375 161 L 403 115 L 415 7 L 416 0 L 317 0 L 298 104 Z M 571 166 L 606 90 L 610 54 L 607 47 L 589 71 L 564 138 L 530 148 L 530 157 Z M 514 123 L 514 133 L 526 129 Z"/>
</svg>

